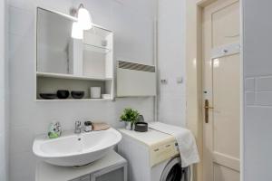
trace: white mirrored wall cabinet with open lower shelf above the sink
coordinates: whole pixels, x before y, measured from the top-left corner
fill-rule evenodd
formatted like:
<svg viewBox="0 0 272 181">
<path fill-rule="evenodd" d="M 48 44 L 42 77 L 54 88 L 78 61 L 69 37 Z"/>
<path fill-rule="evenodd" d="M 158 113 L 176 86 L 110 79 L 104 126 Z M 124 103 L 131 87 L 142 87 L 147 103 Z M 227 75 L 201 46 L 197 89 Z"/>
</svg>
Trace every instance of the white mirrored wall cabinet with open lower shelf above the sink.
<svg viewBox="0 0 272 181">
<path fill-rule="evenodd" d="M 91 100 L 91 87 L 100 87 L 101 94 L 113 99 L 113 33 L 93 24 L 83 31 L 83 39 L 73 39 L 75 21 L 73 16 L 37 8 L 36 100 L 43 100 L 41 93 L 57 90 L 82 90 L 83 98 Z"/>
</svg>

